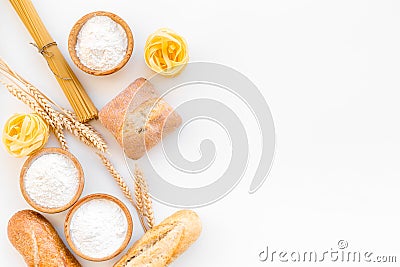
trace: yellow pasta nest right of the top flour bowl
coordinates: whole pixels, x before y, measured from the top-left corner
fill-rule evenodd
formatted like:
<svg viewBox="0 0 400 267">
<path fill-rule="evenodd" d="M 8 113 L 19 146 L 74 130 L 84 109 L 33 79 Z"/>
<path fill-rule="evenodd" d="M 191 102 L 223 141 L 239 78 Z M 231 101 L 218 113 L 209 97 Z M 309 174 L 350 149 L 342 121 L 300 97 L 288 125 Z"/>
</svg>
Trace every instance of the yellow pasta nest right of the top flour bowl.
<svg viewBox="0 0 400 267">
<path fill-rule="evenodd" d="M 150 35 L 144 49 L 147 66 L 165 76 L 177 75 L 189 61 L 185 39 L 169 29 Z"/>
</svg>

